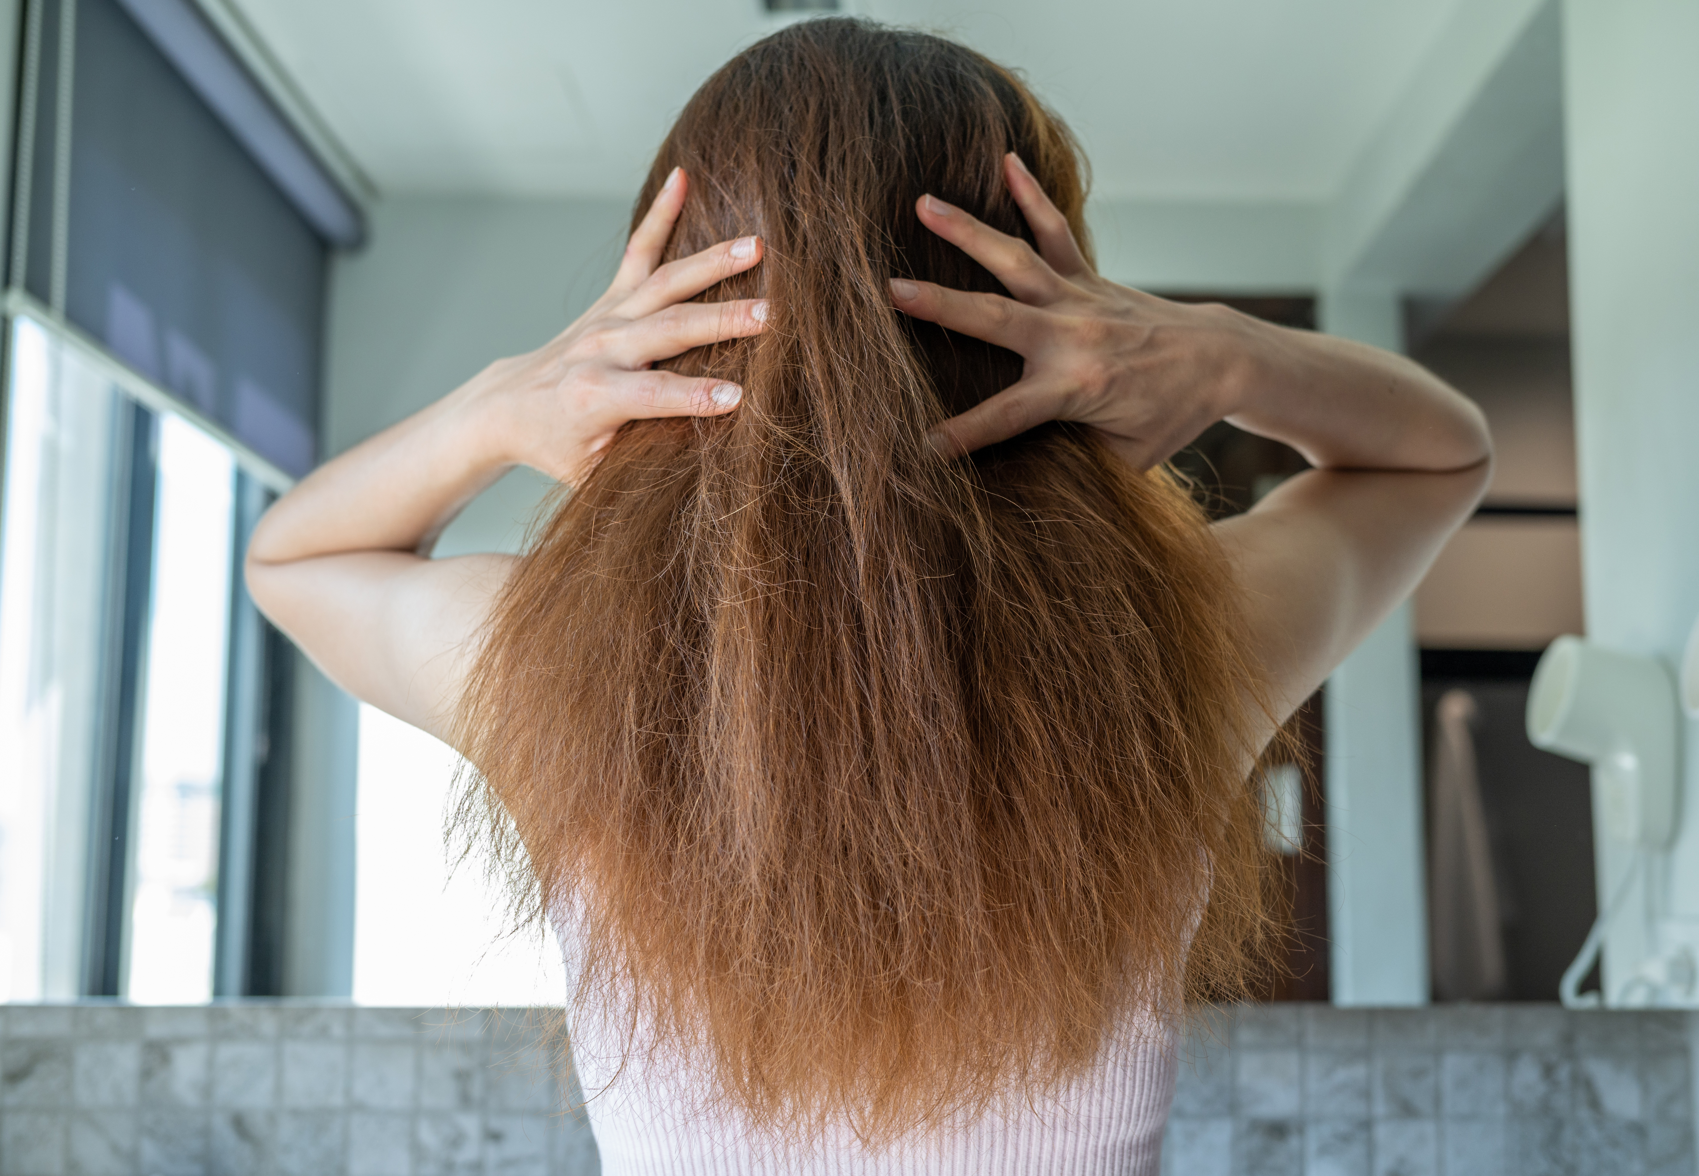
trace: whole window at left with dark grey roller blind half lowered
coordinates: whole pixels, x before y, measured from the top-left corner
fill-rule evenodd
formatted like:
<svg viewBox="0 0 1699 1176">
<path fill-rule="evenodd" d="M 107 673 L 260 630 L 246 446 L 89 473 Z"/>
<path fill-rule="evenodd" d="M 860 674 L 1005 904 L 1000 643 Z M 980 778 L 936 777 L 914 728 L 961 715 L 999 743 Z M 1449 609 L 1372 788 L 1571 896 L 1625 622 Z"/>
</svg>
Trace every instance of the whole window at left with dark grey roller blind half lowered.
<svg viewBox="0 0 1699 1176">
<path fill-rule="evenodd" d="M 20 53 L 0 999 L 275 994 L 292 654 L 238 566 L 358 214 L 189 0 L 29 0 Z"/>
</svg>

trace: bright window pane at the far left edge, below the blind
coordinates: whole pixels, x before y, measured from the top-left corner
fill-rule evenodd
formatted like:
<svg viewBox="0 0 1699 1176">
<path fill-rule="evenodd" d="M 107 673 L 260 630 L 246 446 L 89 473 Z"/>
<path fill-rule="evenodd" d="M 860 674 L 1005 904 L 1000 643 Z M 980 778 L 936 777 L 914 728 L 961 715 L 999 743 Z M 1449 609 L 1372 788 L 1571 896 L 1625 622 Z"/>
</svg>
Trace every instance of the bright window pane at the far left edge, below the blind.
<svg viewBox="0 0 1699 1176">
<path fill-rule="evenodd" d="M 0 1001 L 82 991 L 119 398 L 12 321 L 0 518 Z"/>
</svg>

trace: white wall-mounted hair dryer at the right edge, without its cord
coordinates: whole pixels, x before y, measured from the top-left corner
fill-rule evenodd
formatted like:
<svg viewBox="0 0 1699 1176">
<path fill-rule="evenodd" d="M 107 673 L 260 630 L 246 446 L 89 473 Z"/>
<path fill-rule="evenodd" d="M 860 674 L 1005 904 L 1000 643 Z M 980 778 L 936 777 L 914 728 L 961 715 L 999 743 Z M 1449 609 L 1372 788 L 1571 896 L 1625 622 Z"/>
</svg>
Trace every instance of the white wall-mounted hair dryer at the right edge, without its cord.
<svg viewBox="0 0 1699 1176">
<path fill-rule="evenodd" d="M 1606 834 L 1641 850 L 1670 845 L 1677 738 L 1663 663 L 1580 637 L 1546 646 L 1527 692 L 1527 739 L 1594 766 Z"/>
</svg>

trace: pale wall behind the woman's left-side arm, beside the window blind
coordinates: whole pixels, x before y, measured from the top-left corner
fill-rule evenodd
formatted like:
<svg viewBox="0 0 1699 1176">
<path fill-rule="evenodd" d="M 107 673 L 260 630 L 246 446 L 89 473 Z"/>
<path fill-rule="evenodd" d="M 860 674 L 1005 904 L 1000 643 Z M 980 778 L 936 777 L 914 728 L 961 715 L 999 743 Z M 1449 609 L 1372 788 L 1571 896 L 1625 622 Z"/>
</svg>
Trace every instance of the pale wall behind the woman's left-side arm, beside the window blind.
<svg viewBox="0 0 1699 1176">
<path fill-rule="evenodd" d="M 613 201 L 396 199 L 372 207 L 370 243 L 331 269 L 323 450 L 338 454 L 491 360 L 547 342 L 605 287 L 625 221 L 627 207 Z M 510 472 L 437 551 L 516 551 L 547 489 L 530 471 Z M 292 996 L 355 989 L 360 743 L 353 698 L 297 658 Z M 435 783 L 432 795 L 440 802 Z M 476 989 L 459 994 L 466 991 Z"/>
</svg>

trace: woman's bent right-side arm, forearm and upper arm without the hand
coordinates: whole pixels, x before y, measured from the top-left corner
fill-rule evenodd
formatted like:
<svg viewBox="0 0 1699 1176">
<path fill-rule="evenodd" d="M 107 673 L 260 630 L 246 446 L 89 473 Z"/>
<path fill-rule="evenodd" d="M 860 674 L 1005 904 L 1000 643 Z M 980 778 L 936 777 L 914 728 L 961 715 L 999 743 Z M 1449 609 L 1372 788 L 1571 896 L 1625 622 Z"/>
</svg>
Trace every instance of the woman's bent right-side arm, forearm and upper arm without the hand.
<svg viewBox="0 0 1699 1176">
<path fill-rule="evenodd" d="M 1225 418 L 1317 467 L 1215 525 L 1284 717 L 1468 522 L 1492 474 L 1492 440 L 1471 401 L 1400 355 L 1244 326 L 1254 362 L 1242 384 L 1223 389 Z"/>
</svg>

